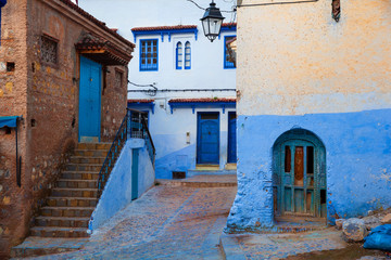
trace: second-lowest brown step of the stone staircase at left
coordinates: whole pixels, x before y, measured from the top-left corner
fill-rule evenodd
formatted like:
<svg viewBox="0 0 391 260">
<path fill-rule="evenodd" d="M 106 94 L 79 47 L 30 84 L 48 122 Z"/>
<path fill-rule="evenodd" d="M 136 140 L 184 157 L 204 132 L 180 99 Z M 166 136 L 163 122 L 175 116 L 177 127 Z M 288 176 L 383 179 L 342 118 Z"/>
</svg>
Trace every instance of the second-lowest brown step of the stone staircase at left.
<svg viewBox="0 0 391 260">
<path fill-rule="evenodd" d="M 70 217 L 37 217 L 37 226 L 63 226 L 63 227 L 88 227 L 90 218 L 70 218 Z"/>
</svg>

